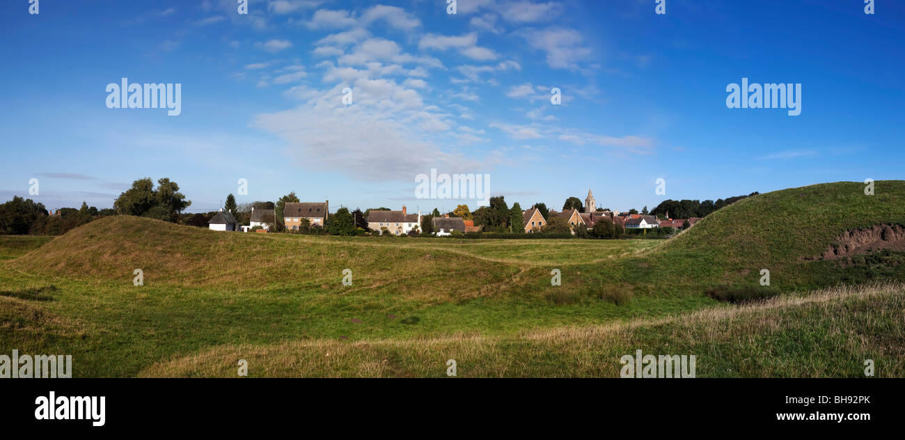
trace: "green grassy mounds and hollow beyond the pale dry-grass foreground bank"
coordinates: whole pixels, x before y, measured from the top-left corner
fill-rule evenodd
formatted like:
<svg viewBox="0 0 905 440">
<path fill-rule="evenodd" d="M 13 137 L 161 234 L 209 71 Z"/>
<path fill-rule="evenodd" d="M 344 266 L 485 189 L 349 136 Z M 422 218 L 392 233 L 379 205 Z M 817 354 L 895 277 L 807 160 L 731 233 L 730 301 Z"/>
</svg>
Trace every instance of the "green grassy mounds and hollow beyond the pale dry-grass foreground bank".
<svg viewBox="0 0 905 440">
<path fill-rule="evenodd" d="M 905 223 L 902 182 L 877 182 L 872 197 L 862 187 L 839 183 L 751 197 L 666 244 L 224 234 L 112 217 L 0 263 L 0 291 L 10 293 L 0 295 L 0 351 L 72 353 L 81 359 L 74 366 L 79 376 L 131 376 L 214 346 L 266 349 L 298 340 L 405 343 L 480 333 L 502 338 L 498 349 L 509 356 L 506 349 L 518 344 L 506 338 L 519 340 L 526 330 L 699 310 L 714 303 L 701 295 L 704 288 L 756 283 L 764 267 L 785 288 L 870 279 L 873 273 L 860 268 L 800 260 L 846 229 Z M 347 267 L 353 287 L 340 284 Z M 144 270 L 145 286 L 132 286 L 136 268 Z M 550 286 L 551 268 L 562 270 L 562 286 Z M 19 294 L 51 285 L 55 301 Z M 634 296 L 626 305 L 601 301 L 614 291 Z M 552 293 L 565 304 L 551 304 Z M 402 322 L 409 317 L 419 321 Z M 333 375 L 319 371 L 312 374 Z"/>
</svg>

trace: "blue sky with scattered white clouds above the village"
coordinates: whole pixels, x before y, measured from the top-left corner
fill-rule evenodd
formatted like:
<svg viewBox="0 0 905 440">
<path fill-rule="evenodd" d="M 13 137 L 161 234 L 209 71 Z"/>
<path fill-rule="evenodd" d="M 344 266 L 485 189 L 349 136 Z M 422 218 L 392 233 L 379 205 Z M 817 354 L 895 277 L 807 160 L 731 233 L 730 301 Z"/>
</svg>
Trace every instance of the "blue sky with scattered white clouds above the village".
<svg viewBox="0 0 905 440">
<path fill-rule="evenodd" d="M 591 188 L 627 210 L 900 179 L 905 5 L 877 4 L 41 0 L 32 15 L 8 1 L 0 199 L 38 178 L 28 197 L 49 208 L 109 207 L 132 180 L 169 177 L 197 212 L 245 178 L 240 203 L 452 209 L 414 196 L 437 168 L 490 174 L 510 205 Z M 180 83 L 181 114 L 108 109 L 121 78 Z M 802 84 L 801 114 L 727 108 L 742 78 Z"/>
</svg>

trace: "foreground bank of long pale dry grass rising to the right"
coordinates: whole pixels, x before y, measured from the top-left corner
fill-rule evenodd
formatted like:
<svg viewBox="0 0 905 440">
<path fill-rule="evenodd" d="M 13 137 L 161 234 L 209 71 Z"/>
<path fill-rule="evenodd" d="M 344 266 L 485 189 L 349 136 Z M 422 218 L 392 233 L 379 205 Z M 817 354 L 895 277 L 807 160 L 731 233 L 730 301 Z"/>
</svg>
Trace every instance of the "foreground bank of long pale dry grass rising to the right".
<svg viewBox="0 0 905 440">
<path fill-rule="evenodd" d="M 220 346 L 157 364 L 142 376 L 619 377 L 625 354 L 696 356 L 697 377 L 879 377 L 905 375 L 905 286 L 830 289 L 679 317 L 415 340 L 295 341 Z"/>
</svg>

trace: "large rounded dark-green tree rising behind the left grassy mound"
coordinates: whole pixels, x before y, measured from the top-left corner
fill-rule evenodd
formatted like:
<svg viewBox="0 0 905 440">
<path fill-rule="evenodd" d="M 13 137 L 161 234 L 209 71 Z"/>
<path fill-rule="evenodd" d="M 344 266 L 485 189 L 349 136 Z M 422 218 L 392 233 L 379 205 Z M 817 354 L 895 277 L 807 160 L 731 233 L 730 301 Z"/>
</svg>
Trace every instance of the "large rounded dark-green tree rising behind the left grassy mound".
<svg viewBox="0 0 905 440">
<path fill-rule="evenodd" d="M 192 202 L 179 192 L 176 182 L 164 177 L 157 180 L 157 188 L 150 177 L 132 182 L 130 187 L 113 202 L 120 215 L 140 215 L 167 222 L 179 221 L 179 214 Z"/>
</svg>

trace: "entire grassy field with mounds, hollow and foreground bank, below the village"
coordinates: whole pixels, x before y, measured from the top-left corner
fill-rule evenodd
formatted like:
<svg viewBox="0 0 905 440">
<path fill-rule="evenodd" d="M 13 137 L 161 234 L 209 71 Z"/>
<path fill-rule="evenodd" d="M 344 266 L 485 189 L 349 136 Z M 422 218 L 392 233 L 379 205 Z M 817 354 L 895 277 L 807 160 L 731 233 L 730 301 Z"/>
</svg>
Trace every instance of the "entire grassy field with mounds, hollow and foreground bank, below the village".
<svg viewBox="0 0 905 440">
<path fill-rule="evenodd" d="M 634 349 L 696 354 L 698 376 L 857 376 L 863 359 L 905 376 L 905 256 L 812 258 L 849 229 L 905 225 L 903 202 L 902 181 L 875 196 L 792 188 L 669 241 L 227 234 L 108 217 L 52 241 L 0 238 L 0 353 L 71 354 L 75 377 L 230 377 L 238 359 L 250 376 L 440 376 L 446 359 L 469 377 L 614 376 Z M 761 269 L 780 297 L 705 293 L 759 286 Z"/>
</svg>

